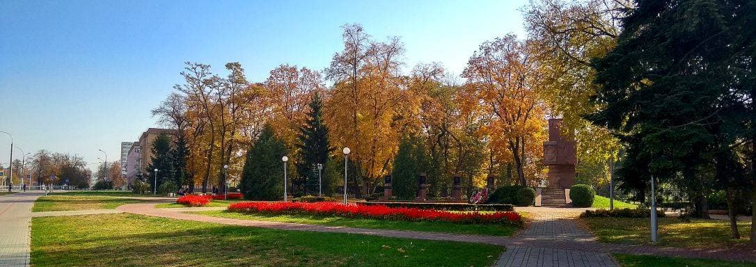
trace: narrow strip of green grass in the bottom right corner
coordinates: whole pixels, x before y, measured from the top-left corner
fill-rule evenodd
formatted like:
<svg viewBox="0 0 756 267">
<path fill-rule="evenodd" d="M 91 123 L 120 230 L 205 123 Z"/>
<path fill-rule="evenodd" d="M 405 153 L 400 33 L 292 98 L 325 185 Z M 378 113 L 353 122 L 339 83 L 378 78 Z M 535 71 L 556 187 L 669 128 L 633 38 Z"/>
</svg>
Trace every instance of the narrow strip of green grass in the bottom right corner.
<svg viewBox="0 0 756 267">
<path fill-rule="evenodd" d="M 614 257 L 624 267 L 756 267 L 756 263 L 727 262 L 714 259 L 682 259 L 627 254 L 615 254 Z"/>
</svg>

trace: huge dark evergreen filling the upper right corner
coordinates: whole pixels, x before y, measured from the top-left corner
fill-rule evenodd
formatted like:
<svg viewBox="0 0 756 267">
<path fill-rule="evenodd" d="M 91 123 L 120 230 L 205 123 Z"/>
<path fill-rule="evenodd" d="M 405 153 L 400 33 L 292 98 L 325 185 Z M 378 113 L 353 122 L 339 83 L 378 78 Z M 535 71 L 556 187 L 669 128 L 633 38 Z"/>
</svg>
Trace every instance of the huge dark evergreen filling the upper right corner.
<svg viewBox="0 0 756 267">
<path fill-rule="evenodd" d="M 756 133 L 746 126 L 756 121 L 754 13 L 750 0 L 637 1 L 623 19 L 617 46 L 593 61 L 601 109 L 589 118 L 627 144 L 624 186 L 676 183 L 707 216 L 705 194 L 723 173 L 701 170 L 718 159 L 722 171 L 723 152 Z"/>
</svg>

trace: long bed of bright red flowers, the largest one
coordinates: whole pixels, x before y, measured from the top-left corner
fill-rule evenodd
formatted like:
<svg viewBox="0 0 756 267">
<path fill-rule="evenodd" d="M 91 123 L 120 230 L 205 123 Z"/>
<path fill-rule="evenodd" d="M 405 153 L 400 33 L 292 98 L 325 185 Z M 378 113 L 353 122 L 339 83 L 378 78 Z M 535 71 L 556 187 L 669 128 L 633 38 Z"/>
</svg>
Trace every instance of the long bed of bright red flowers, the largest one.
<svg viewBox="0 0 756 267">
<path fill-rule="evenodd" d="M 241 213 L 308 214 L 348 218 L 391 219 L 407 221 L 438 221 L 460 223 L 511 223 L 522 225 L 522 216 L 513 211 L 494 213 L 453 213 L 407 207 L 344 205 L 337 202 L 241 202 L 231 204 L 229 211 Z"/>
</svg>

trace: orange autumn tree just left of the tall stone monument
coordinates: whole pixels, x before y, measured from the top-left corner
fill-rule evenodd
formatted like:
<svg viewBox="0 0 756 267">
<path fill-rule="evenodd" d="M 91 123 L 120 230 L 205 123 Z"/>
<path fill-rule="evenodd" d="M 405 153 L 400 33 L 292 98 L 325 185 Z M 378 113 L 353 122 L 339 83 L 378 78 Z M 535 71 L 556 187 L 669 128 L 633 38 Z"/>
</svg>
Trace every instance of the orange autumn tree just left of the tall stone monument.
<svg viewBox="0 0 756 267">
<path fill-rule="evenodd" d="M 522 186 L 527 186 L 528 152 L 534 155 L 543 150 L 545 126 L 544 105 L 538 96 L 540 73 L 530 49 L 511 34 L 486 41 L 463 72 L 469 96 L 491 115 L 487 125 L 491 157 L 506 149 Z"/>
</svg>

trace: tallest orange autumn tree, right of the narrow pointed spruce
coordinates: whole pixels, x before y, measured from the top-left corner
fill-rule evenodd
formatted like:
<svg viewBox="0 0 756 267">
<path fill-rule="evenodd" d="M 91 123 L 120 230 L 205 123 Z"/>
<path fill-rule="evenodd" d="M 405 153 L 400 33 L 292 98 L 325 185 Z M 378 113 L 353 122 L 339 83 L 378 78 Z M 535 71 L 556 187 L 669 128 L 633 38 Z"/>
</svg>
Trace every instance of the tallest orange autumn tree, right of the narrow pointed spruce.
<svg viewBox="0 0 756 267">
<path fill-rule="evenodd" d="M 344 49 L 326 69 L 334 85 L 325 113 L 335 143 L 352 149 L 349 158 L 360 171 L 349 179 L 359 184 L 359 189 L 354 189 L 359 197 L 375 189 L 377 180 L 388 173 L 395 153 L 398 132 L 394 119 L 402 84 L 399 57 L 404 48 L 398 38 L 371 41 L 356 24 L 342 28 Z"/>
</svg>

